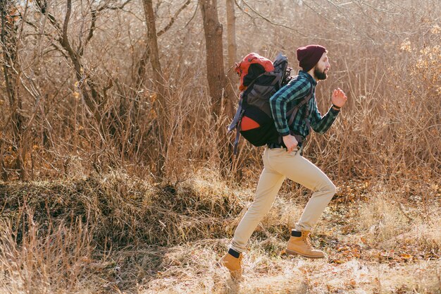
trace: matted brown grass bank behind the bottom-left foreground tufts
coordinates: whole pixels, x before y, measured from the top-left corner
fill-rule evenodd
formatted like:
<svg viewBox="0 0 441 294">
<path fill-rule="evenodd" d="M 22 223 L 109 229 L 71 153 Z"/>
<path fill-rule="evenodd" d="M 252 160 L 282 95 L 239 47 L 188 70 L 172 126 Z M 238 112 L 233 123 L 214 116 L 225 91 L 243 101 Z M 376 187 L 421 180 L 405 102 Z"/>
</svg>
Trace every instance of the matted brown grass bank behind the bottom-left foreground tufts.
<svg viewBox="0 0 441 294">
<path fill-rule="evenodd" d="M 1 185 L 1 207 L 17 242 L 27 235 L 24 208 L 42 229 L 82 221 L 103 250 L 138 243 L 172 245 L 218 238 L 242 209 L 237 192 L 199 178 L 179 185 L 151 185 L 123 173 L 51 183 Z M 201 186 L 200 181 L 204 188 Z"/>
</svg>

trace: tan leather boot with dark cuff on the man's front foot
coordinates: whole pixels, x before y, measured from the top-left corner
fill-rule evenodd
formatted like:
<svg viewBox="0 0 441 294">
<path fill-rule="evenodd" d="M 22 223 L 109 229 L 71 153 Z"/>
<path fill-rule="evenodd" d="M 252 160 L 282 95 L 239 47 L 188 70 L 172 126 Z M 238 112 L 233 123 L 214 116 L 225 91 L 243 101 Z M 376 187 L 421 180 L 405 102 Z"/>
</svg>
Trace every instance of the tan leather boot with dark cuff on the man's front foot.
<svg viewBox="0 0 441 294">
<path fill-rule="evenodd" d="M 286 252 L 288 255 L 302 255 L 308 258 L 323 258 L 325 253 L 316 250 L 311 245 L 309 238 L 310 231 L 292 231 L 291 238 L 288 241 Z"/>
</svg>

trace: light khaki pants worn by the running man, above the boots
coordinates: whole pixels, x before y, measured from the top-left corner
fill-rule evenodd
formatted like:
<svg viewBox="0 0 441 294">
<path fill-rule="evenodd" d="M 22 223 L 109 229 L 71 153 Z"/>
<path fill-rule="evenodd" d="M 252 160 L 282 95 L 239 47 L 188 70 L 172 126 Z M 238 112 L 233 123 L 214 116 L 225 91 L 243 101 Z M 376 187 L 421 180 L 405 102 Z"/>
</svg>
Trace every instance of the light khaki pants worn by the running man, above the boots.
<svg viewBox="0 0 441 294">
<path fill-rule="evenodd" d="M 263 152 L 263 166 L 254 202 L 237 226 L 230 245 L 237 252 L 244 252 L 256 226 L 271 209 L 285 178 L 313 191 L 302 216 L 295 224 L 297 231 L 311 231 L 335 195 L 335 185 L 328 176 L 299 152 L 287 153 L 283 148 L 266 148 Z"/>
</svg>

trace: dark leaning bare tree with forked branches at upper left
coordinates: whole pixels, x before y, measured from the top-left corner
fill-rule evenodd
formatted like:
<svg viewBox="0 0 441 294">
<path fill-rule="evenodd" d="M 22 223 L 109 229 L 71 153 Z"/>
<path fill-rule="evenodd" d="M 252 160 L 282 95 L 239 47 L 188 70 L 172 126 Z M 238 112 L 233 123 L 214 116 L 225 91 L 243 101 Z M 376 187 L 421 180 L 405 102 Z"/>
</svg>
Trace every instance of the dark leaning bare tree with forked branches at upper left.
<svg viewBox="0 0 441 294">
<path fill-rule="evenodd" d="M 77 36 L 75 36 L 75 33 L 69 32 L 72 14 L 77 8 L 76 6 L 73 7 L 72 0 L 66 0 L 66 13 L 62 20 L 58 19 L 56 15 L 49 11 L 49 1 L 35 1 L 37 11 L 44 16 L 45 20 L 49 20 L 49 23 L 54 27 L 54 34 L 48 34 L 39 29 L 37 24 L 27 22 L 31 27 L 34 27 L 35 30 L 37 30 L 38 35 L 46 36 L 51 42 L 51 46 L 59 51 L 61 56 L 70 63 L 77 80 L 75 85 L 77 89 L 80 90 L 80 94 L 82 94 L 82 101 L 85 102 L 87 112 L 92 114 L 92 117 L 94 118 L 94 125 L 99 132 L 101 144 L 104 145 L 105 149 L 113 149 L 108 147 L 116 147 L 116 149 L 120 149 L 120 151 L 123 148 L 120 146 L 118 147 L 118 144 L 121 144 L 118 140 L 113 139 L 119 134 L 121 140 L 123 140 L 124 136 L 121 134 L 120 129 L 122 128 L 122 125 L 125 124 L 123 119 L 121 119 L 121 117 L 124 116 L 120 116 L 114 107 L 107 107 L 109 99 L 108 90 L 113 87 L 113 80 L 111 76 L 108 76 L 105 84 L 99 82 L 97 78 L 94 77 L 92 69 L 86 66 L 84 54 L 97 30 L 99 14 L 106 10 L 122 9 L 130 1 L 131 0 L 125 0 L 123 4 L 119 4 L 118 6 L 113 4 L 113 1 L 104 1 L 99 2 L 98 4 L 91 3 L 86 5 L 87 10 L 84 10 L 82 13 L 84 18 L 82 19 L 82 23 L 84 25 L 88 24 L 89 27 L 85 30 L 81 30 Z M 88 15 L 87 18 L 85 17 L 86 14 Z M 107 154 L 111 165 L 116 165 L 118 157 L 114 156 L 115 154 L 112 154 L 111 152 L 107 152 Z"/>
</svg>

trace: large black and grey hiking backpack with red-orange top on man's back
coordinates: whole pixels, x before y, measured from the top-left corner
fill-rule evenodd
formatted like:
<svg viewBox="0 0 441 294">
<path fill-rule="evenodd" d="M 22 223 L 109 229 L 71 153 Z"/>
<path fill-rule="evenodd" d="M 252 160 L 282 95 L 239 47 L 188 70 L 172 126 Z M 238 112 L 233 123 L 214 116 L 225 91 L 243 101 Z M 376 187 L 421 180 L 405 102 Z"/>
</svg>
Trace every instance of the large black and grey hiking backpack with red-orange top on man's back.
<svg viewBox="0 0 441 294">
<path fill-rule="evenodd" d="M 268 143 L 282 143 L 278 131 L 275 128 L 273 115 L 271 114 L 270 98 L 292 79 L 290 73 L 292 68 L 288 67 L 286 56 L 278 54 L 274 62 L 256 53 L 250 53 L 240 63 L 236 63 L 235 71 L 240 75 L 239 106 L 233 118 L 228 133 L 236 129 L 234 154 L 237 154 L 237 145 L 240 135 L 247 139 L 252 145 L 259 147 Z M 290 117 L 288 125 L 294 121 L 294 116 L 300 107 L 307 105 L 312 97 L 312 92 L 287 111 Z M 307 114 L 306 110 L 306 123 Z M 294 134 L 293 134 L 294 135 Z M 297 136 L 297 141 L 302 140 Z M 299 141 L 300 142 L 300 141 Z"/>
</svg>

